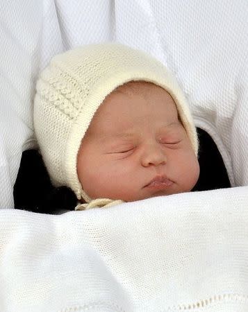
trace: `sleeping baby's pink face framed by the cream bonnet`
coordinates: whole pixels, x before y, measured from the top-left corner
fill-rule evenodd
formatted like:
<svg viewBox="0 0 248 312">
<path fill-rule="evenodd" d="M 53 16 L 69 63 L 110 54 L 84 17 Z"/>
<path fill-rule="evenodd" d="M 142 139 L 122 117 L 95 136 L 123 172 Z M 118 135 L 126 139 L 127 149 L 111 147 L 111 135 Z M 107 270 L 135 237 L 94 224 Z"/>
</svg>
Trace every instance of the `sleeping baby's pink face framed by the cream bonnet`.
<svg viewBox="0 0 248 312">
<path fill-rule="evenodd" d="M 199 164 L 170 94 L 132 82 L 97 110 L 78 152 L 77 171 L 90 198 L 133 201 L 190 191 Z"/>
</svg>

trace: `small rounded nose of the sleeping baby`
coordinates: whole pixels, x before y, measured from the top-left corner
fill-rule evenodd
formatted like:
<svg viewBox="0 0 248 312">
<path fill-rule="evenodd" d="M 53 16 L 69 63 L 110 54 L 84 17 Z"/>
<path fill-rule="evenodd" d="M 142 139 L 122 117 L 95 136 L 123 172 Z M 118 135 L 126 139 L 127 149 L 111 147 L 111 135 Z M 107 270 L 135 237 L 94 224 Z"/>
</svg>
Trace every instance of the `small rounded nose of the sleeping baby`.
<svg viewBox="0 0 248 312">
<path fill-rule="evenodd" d="M 149 144 L 144 148 L 141 157 L 142 166 L 158 166 L 159 164 L 166 164 L 167 158 L 165 151 L 160 144 Z"/>
</svg>

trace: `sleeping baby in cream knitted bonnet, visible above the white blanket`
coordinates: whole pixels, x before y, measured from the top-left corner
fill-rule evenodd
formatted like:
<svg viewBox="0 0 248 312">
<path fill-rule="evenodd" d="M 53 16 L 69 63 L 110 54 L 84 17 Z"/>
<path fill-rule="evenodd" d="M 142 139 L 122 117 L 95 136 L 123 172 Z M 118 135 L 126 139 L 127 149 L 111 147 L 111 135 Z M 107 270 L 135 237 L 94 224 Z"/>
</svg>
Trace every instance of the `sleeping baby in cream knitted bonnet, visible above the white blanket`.
<svg viewBox="0 0 248 312">
<path fill-rule="evenodd" d="M 53 58 L 38 81 L 34 125 L 51 181 L 74 191 L 76 209 L 197 183 L 197 133 L 183 92 L 158 60 L 122 44 Z"/>
</svg>

